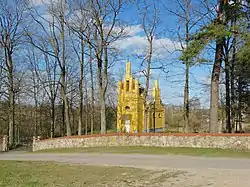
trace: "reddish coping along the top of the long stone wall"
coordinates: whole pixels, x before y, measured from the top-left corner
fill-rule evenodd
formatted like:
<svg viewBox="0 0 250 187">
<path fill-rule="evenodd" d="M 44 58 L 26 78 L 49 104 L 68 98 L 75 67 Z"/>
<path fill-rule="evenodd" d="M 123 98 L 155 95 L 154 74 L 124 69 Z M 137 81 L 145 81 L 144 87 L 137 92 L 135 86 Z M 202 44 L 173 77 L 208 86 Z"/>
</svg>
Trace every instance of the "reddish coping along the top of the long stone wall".
<svg viewBox="0 0 250 187">
<path fill-rule="evenodd" d="M 216 137 L 250 137 L 250 133 L 108 133 L 108 134 L 93 134 L 93 135 L 75 135 L 75 136 L 64 136 L 58 138 L 46 138 L 46 139 L 35 139 L 35 141 L 47 141 L 55 139 L 78 139 L 78 138 L 94 138 L 94 137 L 108 137 L 108 136 L 216 136 Z"/>
</svg>

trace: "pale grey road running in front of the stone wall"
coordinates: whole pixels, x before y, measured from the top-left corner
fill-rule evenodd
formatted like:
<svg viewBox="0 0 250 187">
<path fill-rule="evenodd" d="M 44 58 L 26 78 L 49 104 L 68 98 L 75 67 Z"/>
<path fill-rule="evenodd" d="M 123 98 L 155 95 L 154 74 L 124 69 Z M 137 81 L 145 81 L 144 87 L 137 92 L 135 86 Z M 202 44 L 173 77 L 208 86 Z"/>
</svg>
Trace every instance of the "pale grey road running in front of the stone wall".
<svg viewBox="0 0 250 187">
<path fill-rule="evenodd" d="M 90 153 L 4 153 L 0 160 L 36 160 L 89 165 L 128 166 L 181 173 L 162 186 L 250 186 L 250 159 L 205 158 L 176 155 Z"/>
</svg>

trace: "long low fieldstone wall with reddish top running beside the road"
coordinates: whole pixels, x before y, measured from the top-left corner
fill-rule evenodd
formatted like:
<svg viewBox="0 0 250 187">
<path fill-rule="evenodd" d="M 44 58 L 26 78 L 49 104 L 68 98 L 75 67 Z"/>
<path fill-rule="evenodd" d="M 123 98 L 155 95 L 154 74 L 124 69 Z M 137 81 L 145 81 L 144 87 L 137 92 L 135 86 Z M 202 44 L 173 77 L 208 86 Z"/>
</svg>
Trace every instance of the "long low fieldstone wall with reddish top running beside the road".
<svg viewBox="0 0 250 187">
<path fill-rule="evenodd" d="M 250 150 L 250 134 L 106 134 L 33 139 L 33 151 L 105 146 L 192 147 Z"/>
</svg>

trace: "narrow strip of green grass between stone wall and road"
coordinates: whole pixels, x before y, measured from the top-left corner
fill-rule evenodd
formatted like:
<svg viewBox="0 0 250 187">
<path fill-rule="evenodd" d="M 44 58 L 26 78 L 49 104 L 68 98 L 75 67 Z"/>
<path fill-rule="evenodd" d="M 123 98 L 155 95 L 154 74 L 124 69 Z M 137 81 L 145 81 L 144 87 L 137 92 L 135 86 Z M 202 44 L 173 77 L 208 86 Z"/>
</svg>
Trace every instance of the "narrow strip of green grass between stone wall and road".
<svg viewBox="0 0 250 187">
<path fill-rule="evenodd" d="M 206 148 L 163 148 L 163 147 L 95 147 L 47 149 L 40 153 L 123 153 L 123 154 L 175 154 L 208 157 L 250 158 L 250 151 Z M 36 153 L 36 152 L 35 152 Z"/>
</svg>

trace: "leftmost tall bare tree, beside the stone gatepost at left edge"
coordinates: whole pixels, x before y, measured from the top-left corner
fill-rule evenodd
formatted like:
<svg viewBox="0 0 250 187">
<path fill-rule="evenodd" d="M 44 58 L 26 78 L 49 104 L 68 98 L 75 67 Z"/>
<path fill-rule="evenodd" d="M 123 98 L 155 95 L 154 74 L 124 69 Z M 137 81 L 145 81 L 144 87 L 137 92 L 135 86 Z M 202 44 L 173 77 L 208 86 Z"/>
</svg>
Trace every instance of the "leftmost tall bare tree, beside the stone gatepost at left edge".
<svg viewBox="0 0 250 187">
<path fill-rule="evenodd" d="M 9 3 L 7 0 L 1 0 L 0 4 L 0 46 L 4 49 L 5 67 L 8 74 L 9 145 L 14 146 L 15 95 L 17 90 L 14 83 L 15 63 L 13 55 L 23 36 L 22 22 L 27 2 L 25 0 L 15 0 L 13 3 Z"/>
</svg>

